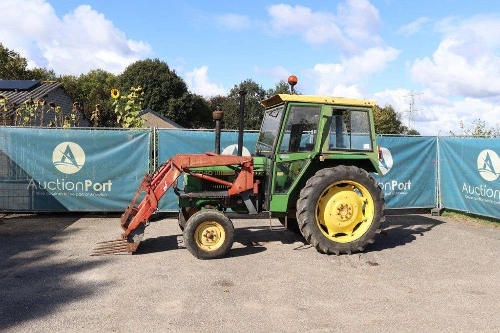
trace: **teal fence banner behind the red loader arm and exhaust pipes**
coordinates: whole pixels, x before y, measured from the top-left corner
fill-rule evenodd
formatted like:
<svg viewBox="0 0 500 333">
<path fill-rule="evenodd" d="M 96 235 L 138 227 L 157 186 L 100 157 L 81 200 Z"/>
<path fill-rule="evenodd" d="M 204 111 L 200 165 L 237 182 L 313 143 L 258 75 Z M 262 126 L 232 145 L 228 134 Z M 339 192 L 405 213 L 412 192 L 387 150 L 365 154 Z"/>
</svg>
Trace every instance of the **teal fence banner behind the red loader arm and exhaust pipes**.
<svg viewBox="0 0 500 333">
<path fill-rule="evenodd" d="M 249 156 L 255 150 L 257 132 L 245 132 L 243 135 L 243 155 Z M 237 132 L 220 133 L 220 153 L 236 154 L 238 144 Z M 169 130 L 158 129 L 158 165 L 178 153 L 204 153 L 215 150 L 215 131 L 213 130 Z M 182 176 L 181 176 L 182 178 Z M 182 186 L 179 178 L 178 186 Z M 160 211 L 179 210 L 177 196 L 168 190 L 158 202 Z"/>
</svg>

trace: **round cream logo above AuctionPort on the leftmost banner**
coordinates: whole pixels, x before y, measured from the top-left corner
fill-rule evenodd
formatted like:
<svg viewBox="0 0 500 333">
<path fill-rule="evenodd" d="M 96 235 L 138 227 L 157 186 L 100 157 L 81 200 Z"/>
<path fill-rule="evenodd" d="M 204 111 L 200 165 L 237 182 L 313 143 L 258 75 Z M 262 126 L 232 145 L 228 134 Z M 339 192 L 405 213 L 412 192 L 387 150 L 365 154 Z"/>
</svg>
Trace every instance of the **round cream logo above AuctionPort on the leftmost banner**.
<svg viewBox="0 0 500 333">
<path fill-rule="evenodd" d="M 85 163 L 85 152 L 74 142 L 62 142 L 52 152 L 52 163 L 62 173 L 75 173 Z"/>
</svg>

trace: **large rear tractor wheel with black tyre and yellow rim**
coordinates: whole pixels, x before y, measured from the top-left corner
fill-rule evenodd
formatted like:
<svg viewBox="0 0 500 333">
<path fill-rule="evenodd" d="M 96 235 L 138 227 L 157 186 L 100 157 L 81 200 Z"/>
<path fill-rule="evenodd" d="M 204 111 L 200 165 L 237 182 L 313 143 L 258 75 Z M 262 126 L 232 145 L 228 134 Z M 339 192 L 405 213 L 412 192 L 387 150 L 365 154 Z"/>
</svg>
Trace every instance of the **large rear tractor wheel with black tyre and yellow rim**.
<svg viewBox="0 0 500 333">
<path fill-rule="evenodd" d="M 383 192 L 361 168 L 325 168 L 300 191 L 297 220 L 305 239 L 321 253 L 362 251 L 385 220 Z"/>
</svg>

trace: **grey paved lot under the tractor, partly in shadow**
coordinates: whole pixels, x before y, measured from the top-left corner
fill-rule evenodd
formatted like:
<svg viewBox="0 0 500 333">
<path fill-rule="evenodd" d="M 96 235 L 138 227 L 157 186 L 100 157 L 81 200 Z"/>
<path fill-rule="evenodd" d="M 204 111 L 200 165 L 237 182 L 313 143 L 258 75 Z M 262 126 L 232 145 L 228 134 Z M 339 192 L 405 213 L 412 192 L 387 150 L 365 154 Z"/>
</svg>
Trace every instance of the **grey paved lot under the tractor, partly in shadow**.
<svg viewBox="0 0 500 333">
<path fill-rule="evenodd" d="M 89 257 L 118 217 L 3 218 L 0 329 L 500 330 L 500 228 L 391 215 L 364 252 L 327 256 L 266 219 L 233 222 L 230 256 L 198 260 L 175 219 L 137 254 Z"/>
</svg>

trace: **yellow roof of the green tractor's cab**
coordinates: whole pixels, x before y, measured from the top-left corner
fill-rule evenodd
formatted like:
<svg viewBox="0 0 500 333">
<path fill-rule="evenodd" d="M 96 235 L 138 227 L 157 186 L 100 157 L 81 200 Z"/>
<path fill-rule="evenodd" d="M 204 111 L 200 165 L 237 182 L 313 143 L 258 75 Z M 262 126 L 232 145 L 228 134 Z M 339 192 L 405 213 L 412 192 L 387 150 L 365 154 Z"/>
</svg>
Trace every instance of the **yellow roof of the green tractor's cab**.
<svg viewBox="0 0 500 333">
<path fill-rule="evenodd" d="M 274 96 L 260 101 L 264 107 L 269 107 L 282 103 L 284 101 L 308 102 L 308 103 L 321 103 L 321 104 L 341 104 L 351 106 L 373 106 L 376 100 L 367 99 L 354 99 L 344 97 L 332 96 L 317 96 L 317 95 L 292 95 L 287 93 L 278 93 Z"/>
</svg>

